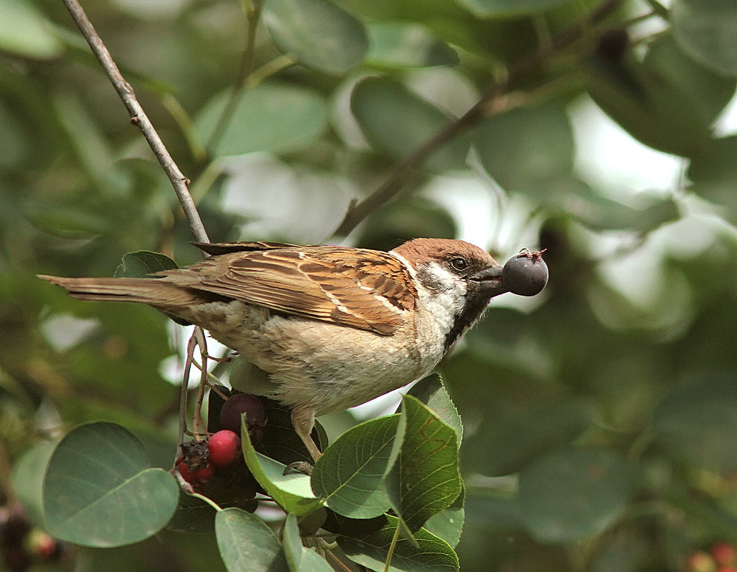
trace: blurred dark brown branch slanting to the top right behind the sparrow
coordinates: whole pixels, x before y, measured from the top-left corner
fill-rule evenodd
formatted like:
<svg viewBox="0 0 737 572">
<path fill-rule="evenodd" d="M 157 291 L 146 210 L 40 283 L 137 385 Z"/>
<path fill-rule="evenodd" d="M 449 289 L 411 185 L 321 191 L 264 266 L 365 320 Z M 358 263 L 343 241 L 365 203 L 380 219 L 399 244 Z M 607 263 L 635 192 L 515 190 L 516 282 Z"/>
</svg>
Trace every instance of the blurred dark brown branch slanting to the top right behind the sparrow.
<svg viewBox="0 0 737 572">
<path fill-rule="evenodd" d="M 562 29 L 551 38 L 549 43 L 545 43 L 537 52 L 523 57 L 514 66 L 511 66 L 509 72 L 502 80 L 498 80 L 486 86 L 481 97 L 474 105 L 462 116 L 449 123 L 444 128 L 435 133 L 430 139 L 427 139 L 418 149 L 403 158 L 394 167 L 388 178 L 374 192 L 368 195 L 360 202 L 353 203 L 349 206 L 346 216 L 335 230 L 333 236 L 346 237 L 363 221 L 369 214 L 375 212 L 381 206 L 384 206 L 393 199 L 402 190 L 402 184 L 405 178 L 422 164 L 425 159 L 432 155 L 444 143 L 458 136 L 459 133 L 476 125 L 481 119 L 495 113 L 495 109 L 490 102 L 502 94 L 509 93 L 520 86 L 534 71 L 542 67 L 553 55 L 556 55 L 562 49 L 569 47 L 571 44 L 584 38 L 584 35 L 594 25 L 607 18 L 614 10 L 616 10 L 624 0 L 604 0 L 591 13 L 589 13 L 580 21 L 571 24 L 569 27 Z"/>
</svg>

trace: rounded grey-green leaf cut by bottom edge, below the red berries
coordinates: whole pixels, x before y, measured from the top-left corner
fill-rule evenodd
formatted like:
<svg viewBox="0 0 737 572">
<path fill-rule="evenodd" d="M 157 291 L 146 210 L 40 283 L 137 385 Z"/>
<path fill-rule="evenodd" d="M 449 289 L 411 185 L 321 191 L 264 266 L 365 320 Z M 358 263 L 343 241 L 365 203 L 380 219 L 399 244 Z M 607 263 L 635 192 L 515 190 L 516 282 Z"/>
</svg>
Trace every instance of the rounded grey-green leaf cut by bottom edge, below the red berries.
<svg viewBox="0 0 737 572">
<path fill-rule="evenodd" d="M 286 572 L 287 559 L 271 529 L 241 509 L 215 517 L 215 537 L 228 572 Z"/>
</svg>

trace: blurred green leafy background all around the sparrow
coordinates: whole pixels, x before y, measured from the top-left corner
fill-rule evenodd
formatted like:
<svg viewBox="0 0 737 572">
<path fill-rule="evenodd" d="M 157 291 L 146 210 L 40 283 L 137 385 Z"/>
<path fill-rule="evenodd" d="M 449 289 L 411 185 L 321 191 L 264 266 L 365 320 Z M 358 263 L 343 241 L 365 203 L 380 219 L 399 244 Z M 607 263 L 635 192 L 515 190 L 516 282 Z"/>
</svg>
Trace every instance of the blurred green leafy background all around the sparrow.
<svg viewBox="0 0 737 572">
<path fill-rule="evenodd" d="M 601 4 L 268 0 L 251 30 L 232 0 L 88 4 L 213 241 L 548 249 L 545 293 L 495 302 L 441 364 L 464 419 L 462 570 L 679 570 L 696 548 L 737 542 L 737 139 L 715 128 L 736 86 L 737 4 L 612 2 L 561 49 Z M 43 528 L 40 467 L 78 423 L 124 425 L 171 466 L 184 335 L 35 273 L 198 253 L 63 5 L 0 0 L 0 13 L 0 478 L 4 503 Z M 502 88 L 468 129 L 400 173 L 401 193 L 332 234 L 490 85 Z M 587 174 L 581 105 L 674 156 L 681 176 L 639 189 Z M 212 535 L 171 531 L 54 566 L 74 565 L 222 567 Z"/>
</svg>

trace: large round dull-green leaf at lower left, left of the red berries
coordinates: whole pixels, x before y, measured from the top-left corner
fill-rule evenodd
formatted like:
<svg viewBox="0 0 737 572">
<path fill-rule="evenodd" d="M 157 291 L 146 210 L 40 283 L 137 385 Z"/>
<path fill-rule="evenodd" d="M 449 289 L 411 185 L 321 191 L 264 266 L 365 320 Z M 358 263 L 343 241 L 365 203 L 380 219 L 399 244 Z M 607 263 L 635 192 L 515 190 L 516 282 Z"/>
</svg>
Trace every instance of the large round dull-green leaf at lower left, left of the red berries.
<svg viewBox="0 0 737 572">
<path fill-rule="evenodd" d="M 178 495 L 169 472 L 149 467 L 136 436 L 112 423 L 90 423 L 71 430 L 54 450 L 43 480 L 43 512 L 55 537 L 120 546 L 161 530 Z"/>
</svg>

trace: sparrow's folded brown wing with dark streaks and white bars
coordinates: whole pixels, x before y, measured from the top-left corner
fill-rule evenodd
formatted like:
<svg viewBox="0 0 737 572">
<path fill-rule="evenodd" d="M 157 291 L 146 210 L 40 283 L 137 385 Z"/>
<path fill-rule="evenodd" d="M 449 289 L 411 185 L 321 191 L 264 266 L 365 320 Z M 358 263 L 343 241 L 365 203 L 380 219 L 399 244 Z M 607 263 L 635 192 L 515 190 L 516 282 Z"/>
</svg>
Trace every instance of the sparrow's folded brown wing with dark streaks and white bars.
<svg viewBox="0 0 737 572">
<path fill-rule="evenodd" d="M 416 296 L 399 259 L 340 246 L 247 247 L 163 274 L 181 286 L 382 335 L 394 333 Z"/>
</svg>

